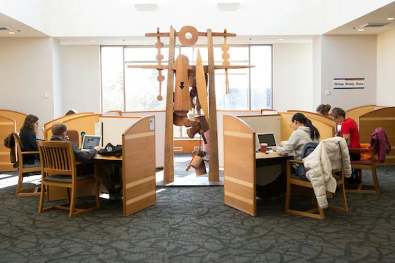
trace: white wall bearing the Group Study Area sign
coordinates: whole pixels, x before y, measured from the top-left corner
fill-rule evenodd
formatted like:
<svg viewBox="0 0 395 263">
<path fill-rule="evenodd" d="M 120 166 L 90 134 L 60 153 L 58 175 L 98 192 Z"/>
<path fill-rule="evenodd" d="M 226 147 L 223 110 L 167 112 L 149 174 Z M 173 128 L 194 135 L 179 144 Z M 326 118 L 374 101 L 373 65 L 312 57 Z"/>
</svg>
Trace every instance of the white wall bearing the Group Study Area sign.
<svg viewBox="0 0 395 263">
<path fill-rule="evenodd" d="M 345 110 L 375 104 L 376 36 L 323 35 L 321 44 L 322 103 Z M 333 89 L 334 78 L 365 78 L 365 88 Z"/>
</svg>

